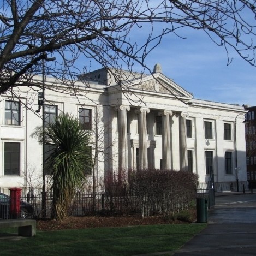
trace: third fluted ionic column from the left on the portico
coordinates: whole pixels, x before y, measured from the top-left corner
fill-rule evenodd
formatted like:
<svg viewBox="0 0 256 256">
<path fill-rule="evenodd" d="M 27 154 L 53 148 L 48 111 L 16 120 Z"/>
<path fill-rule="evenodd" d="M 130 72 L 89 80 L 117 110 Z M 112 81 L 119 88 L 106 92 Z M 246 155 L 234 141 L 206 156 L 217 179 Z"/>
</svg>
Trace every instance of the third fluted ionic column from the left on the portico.
<svg viewBox="0 0 256 256">
<path fill-rule="evenodd" d="M 170 134 L 170 116 L 172 111 L 164 110 L 159 112 L 163 121 L 162 147 L 163 147 L 163 169 L 171 170 L 171 134 Z"/>
</svg>

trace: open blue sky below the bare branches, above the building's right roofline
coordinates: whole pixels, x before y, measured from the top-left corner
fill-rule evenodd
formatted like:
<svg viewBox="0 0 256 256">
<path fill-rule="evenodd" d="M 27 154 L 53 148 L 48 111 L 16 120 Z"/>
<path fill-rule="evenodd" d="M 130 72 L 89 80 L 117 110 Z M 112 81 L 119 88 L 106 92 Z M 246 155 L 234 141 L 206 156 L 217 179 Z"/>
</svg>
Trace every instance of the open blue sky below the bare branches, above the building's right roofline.
<svg viewBox="0 0 256 256">
<path fill-rule="evenodd" d="M 230 104 L 256 105 L 256 67 L 236 52 L 229 52 L 233 61 L 227 65 L 224 47 L 217 46 L 203 31 L 185 29 L 186 39 L 168 34 L 146 58 L 147 67 L 162 66 L 163 74 L 193 93 L 194 98 Z M 145 34 L 137 31 L 137 40 Z M 101 68 L 94 66 L 95 70 Z M 138 69 L 140 67 L 138 66 Z"/>
</svg>

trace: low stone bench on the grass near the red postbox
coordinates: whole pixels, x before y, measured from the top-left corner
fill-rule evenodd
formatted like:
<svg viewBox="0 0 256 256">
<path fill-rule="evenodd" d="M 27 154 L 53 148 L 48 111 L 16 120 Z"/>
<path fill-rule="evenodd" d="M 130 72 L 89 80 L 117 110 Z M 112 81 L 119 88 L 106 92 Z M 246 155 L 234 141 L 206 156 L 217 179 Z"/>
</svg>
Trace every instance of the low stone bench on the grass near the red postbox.
<svg viewBox="0 0 256 256">
<path fill-rule="evenodd" d="M 0 229 L 18 227 L 19 236 L 34 236 L 36 233 L 35 219 L 5 219 L 0 221 Z"/>
</svg>

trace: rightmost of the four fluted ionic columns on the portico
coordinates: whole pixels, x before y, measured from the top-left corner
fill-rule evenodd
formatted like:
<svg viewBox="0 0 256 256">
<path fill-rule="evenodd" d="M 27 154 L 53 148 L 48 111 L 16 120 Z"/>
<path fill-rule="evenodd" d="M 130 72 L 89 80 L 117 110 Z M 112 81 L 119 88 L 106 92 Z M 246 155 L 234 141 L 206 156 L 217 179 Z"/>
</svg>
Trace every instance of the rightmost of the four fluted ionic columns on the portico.
<svg viewBox="0 0 256 256">
<path fill-rule="evenodd" d="M 180 115 L 180 170 L 188 170 L 188 151 L 187 151 L 187 126 L 186 118 L 188 113 L 182 112 Z"/>
</svg>

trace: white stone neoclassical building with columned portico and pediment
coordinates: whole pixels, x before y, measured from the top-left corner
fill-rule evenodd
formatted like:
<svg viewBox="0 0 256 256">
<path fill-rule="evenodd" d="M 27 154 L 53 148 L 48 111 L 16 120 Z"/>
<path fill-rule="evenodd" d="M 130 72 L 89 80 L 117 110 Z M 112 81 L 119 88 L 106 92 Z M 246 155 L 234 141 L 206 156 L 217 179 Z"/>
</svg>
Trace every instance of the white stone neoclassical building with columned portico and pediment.
<svg viewBox="0 0 256 256">
<path fill-rule="evenodd" d="M 115 82 L 117 76 L 121 79 Z M 93 134 L 97 123 L 97 141 L 104 149 L 98 180 L 113 170 L 156 168 L 195 172 L 201 187 L 212 173 L 218 190 L 233 188 L 237 178 L 240 187 L 246 184 L 243 106 L 194 99 L 158 65 L 152 75 L 123 72 L 114 78 L 99 69 L 80 79 L 76 96 L 65 86 L 45 91 L 45 120 L 70 112 Z M 61 87 L 50 78 L 46 84 Z M 2 95 L 0 108 L 0 187 L 41 183 L 43 148 L 31 138 L 42 124 L 41 111 L 35 113 L 38 92 L 22 88 L 19 99 Z"/>
</svg>

